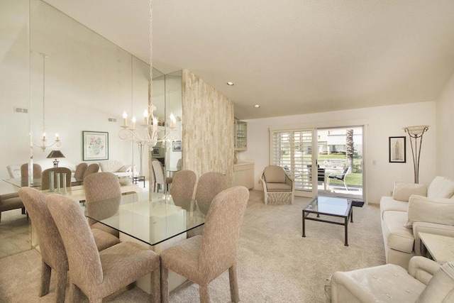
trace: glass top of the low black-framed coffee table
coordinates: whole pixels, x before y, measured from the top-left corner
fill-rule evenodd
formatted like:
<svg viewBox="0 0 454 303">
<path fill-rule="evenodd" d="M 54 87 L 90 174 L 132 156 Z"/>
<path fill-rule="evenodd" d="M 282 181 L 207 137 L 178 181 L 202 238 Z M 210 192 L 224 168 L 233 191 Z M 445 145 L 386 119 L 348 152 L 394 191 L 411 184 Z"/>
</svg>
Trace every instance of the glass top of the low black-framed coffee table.
<svg viewBox="0 0 454 303">
<path fill-rule="evenodd" d="M 315 214 L 348 216 L 351 207 L 352 202 L 349 199 L 318 196 L 309 202 L 304 211 L 313 212 Z"/>
</svg>

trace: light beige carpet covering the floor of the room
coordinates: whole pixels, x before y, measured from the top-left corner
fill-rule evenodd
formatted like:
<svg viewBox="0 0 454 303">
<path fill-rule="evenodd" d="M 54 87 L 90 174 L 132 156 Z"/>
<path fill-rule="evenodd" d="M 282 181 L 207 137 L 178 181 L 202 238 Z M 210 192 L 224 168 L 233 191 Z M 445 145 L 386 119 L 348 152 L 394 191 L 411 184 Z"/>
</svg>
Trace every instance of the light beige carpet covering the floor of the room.
<svg viewBox="0 0 454 303">
<path fill-rule="evenodd" d="M 344 243 L 343 226 L 306 221 L 301 237 L 301 209 L 309 199 L 292 205 L 265 205 L 262 192 L 252 191 L 240 233 L 238 285 L 241 302 L 324 302 L 326 277 L 336 270 L 384 264 L 378 206 L 355 207 Z M 1 302 L 54 302 L 52 292 L 38 298 L 40 255 L 28 250 L 0 259 Z M 53 277 L 52 277 L 53 279 Z M 210 283 L 211 302 L 231 302 L 228 272 Z M 147 302 L 145 292 L 132 290 L 104 302 Z M 170 293 L 170 302 L 199 302 L 199 287 L 186 282 Z"/>
</svg>

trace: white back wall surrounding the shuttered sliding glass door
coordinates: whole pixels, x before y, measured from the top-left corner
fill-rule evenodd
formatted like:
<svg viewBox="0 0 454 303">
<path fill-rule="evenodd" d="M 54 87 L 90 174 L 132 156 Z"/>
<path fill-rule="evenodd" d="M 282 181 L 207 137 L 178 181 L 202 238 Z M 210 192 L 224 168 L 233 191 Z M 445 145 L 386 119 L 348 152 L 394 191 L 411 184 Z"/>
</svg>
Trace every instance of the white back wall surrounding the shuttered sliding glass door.
<svg viewBox="0 0 454 303">
<path fill-rule="evenodd" d="M 394 181 L 414 182 L 413 160 L 409 138 L 404 126 L 429 125 L 423 136 L 419 182 L 429 183 L 436 175 L 436 102 L 428 101 L 395 106 L 379 106 L 319 114 L 273 117 L 246 120 L 248 122 L 248 150 L 238 153 L 238 160 L 255 162 L 255 189 L 262 189 L 258 180 L 263 168 L 269 164 L 270 126 L 333 126 L 338 122 L 367 121 L 365 136 L 365 175 L 367 202 L 379 203 L 380 197 L 389 195 Z M 406 136 L 406 163 L 389 163 L 389 137 Z M 375 165 L 372 165 L 375 161 Z"/>
</svg>

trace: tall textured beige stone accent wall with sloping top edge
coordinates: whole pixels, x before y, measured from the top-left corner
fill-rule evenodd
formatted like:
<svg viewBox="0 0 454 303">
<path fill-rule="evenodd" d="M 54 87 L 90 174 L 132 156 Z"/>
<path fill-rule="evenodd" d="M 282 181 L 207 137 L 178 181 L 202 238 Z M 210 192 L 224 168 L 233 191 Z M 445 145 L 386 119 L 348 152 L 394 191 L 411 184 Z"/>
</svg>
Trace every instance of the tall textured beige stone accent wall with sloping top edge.
<svg viewBox="0 0 454 303">
<path fill-rule="evenodd" d="M 233 102 L 183 70 L 183 168 L 200 177 L 221 172 L 233 185 Z"/>
</svg>

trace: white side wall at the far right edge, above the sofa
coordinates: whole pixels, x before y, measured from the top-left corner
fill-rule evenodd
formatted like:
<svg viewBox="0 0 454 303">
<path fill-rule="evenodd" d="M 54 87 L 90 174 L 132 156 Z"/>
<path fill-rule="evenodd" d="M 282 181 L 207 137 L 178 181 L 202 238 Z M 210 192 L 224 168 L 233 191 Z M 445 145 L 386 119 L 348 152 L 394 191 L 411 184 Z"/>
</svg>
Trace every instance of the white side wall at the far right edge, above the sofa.
<svg viewBox="0 0 454 303">
<path fill-rule="evenodd" d="M 437 175 L 454 179 L 454 73 L 436 104 Z"/>
</svg>

